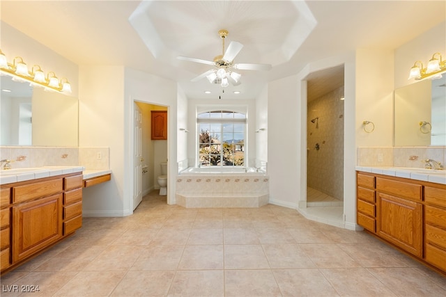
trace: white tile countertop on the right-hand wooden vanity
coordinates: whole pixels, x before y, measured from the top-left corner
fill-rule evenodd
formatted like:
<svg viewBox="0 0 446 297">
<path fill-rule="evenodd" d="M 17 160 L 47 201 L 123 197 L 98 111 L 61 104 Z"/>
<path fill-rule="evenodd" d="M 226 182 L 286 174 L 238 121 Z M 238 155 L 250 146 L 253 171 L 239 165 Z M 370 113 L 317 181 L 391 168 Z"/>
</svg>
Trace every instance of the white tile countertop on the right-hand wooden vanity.
<svg viewBox="0 0 446 297">
<path fill-rule="evenodd" d="M 380 175 L 390 175 L 392 177 L 404 177 L 407 179 L 421 180 L 423 182 L 433 182 L 436 184 L 446 184 L 446 170 L 390 166 L 356 166 L 355 168 L 357 171 L 371 172 Z"/>
</svg>

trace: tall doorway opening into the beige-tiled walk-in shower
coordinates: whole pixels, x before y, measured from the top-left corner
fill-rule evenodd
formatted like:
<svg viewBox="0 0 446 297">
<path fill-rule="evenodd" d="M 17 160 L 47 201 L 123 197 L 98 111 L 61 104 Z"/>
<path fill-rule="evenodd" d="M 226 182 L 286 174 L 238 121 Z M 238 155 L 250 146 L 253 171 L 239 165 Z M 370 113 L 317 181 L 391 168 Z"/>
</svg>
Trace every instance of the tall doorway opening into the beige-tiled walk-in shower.
<svg viewBox="0 0 446 297">
<path fill-rule="evenodd" d="M 307 77 L 307 209 L 310 207 L 325 218 L 343 220 L 344 65 Z"/>
</svg>

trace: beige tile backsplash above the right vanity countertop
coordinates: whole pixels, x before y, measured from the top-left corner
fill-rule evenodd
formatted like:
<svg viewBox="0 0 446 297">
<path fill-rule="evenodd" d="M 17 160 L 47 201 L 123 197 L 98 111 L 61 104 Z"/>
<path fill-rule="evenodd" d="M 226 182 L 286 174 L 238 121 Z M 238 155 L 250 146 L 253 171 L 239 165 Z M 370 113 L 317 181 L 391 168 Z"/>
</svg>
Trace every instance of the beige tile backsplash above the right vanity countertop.
<svg viewBox="0 0 446 297">
<path fill-rule="evenodd" d="M 446 146 L 436 147 L 358 147 L 357 166 L 424 168 L 424 160 L 446 163 Z"/>
</svg>

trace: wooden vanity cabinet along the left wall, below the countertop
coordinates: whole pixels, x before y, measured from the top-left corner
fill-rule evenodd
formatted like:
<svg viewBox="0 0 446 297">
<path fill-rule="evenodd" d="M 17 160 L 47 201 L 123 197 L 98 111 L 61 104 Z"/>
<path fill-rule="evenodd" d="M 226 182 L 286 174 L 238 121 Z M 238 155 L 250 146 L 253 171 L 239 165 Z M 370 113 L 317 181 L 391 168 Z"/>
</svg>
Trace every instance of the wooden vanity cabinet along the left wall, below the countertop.
<svg viewBox="0 0 446 297">
<path fill-rule="evenodd" d="M 1 272 L 82 226 L 82 172 L 1 185 Z"/>
</svg>

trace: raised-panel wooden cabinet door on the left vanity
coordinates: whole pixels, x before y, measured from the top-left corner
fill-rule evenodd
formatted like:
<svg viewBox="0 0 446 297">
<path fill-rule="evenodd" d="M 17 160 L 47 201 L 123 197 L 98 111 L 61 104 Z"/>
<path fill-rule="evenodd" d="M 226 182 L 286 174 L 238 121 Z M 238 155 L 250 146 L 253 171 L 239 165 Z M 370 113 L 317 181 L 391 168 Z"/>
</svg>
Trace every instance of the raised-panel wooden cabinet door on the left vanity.
<svg viewBox="0 0 446 297">
<path fill-rule="evenodd" d="M 62 194 L 24 202 L 13 209 L 13 263 L 62 237 Z"/>
</svg>

